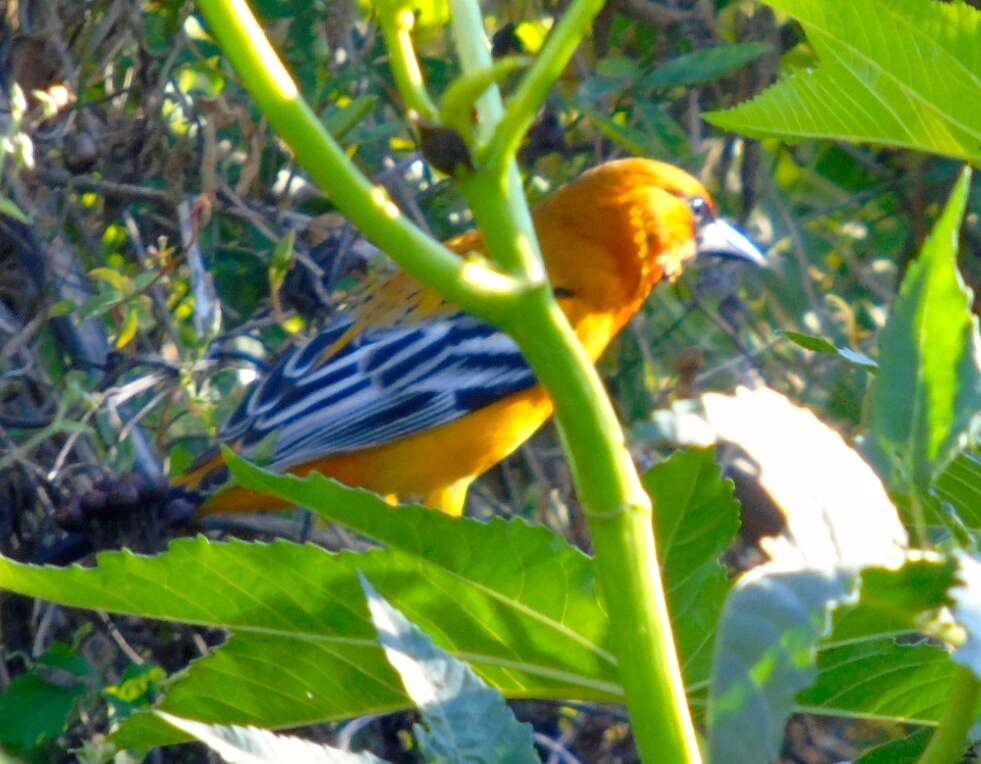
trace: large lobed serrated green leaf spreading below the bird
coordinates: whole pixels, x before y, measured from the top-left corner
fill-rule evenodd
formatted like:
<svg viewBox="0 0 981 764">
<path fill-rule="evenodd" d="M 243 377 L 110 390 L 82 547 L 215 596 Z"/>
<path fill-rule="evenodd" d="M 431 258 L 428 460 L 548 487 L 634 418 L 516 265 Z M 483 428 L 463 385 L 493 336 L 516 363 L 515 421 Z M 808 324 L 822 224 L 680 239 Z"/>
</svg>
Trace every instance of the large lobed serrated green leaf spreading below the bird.
<svg viewBox="0 0 981 764">
<path fill-rule="evenodd" d="M 196 538 L 176 540 L 156 557 L 102 553 L 95 568 L 0 557 L 0 588 L 230 630 L 219 650 L 174 679 L 160 706 L 200 721 L 295 727 L 407 707 L 377 646 L 358 570 L 508 697 L 622 701 L 592 561 L 561 537 L 522 521 L 485 524 L 424 507 L 393 509 L 319 475 L 277 476 L 226 458 L 242 485 L 309 506 L 387 548 L 330 554 L 285 541 Z M 673 570 L 687 575 L 680 564 Z M 674 595 L 669 605 L 693 606 Z M 682 659 L 703 641 L 679 641 Z M 706 678 L 687 674 L 693 682 Z M 137 714 L 114 739 L 146 747 L 181 738 Z"/>
</svg>

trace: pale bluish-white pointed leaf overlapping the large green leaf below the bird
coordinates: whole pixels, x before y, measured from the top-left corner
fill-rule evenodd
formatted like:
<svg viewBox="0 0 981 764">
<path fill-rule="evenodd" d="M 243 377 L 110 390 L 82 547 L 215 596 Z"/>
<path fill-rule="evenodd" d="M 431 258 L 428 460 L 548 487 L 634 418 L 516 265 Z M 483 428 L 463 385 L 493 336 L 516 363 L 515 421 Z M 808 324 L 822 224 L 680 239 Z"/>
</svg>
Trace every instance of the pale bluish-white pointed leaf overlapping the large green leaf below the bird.
<svg viewBox="0 0 981 764">
<path fill-rule="evenodd" d="M 464 662 L 453 659 L 359 575 L 378 641 L 425 726 L 413 725 L 427 761 L 540 764 L 530 724 Z"/>
</svg>

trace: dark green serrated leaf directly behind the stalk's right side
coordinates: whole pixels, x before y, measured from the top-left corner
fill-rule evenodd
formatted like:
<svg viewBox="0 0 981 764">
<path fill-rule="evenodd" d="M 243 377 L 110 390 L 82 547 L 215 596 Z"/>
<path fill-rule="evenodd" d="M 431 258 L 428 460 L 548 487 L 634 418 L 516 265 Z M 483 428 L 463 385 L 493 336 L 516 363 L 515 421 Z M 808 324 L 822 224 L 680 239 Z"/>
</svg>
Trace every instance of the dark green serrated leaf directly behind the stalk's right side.
<svg viewBox="0 0 981 764">
<path fill-rule="evenodd" d="M 668 581 L 675 639 L 691 645 L 688 683 L 709 675 L 729 575 L 719 563 L 739 531 L 739 502 L 722 479 L 714 448 L 679 451 L 644 476 L 657 507 L 658 555 Z"/>
</svg>

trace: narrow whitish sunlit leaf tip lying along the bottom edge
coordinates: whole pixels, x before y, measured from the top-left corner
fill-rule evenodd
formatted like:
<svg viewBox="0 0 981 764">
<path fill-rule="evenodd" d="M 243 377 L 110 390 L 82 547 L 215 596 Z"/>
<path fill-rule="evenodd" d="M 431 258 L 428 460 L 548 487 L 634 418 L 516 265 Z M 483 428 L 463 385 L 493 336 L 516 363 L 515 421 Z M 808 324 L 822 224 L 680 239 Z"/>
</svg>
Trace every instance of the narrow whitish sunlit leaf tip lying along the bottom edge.
<svg viewBox="0 0 981 764">
<path fill-rule="evenodd" d="M 186 732 L 221 756 L 229 764 L 384 764 L 370 753 L 352 753 L 340 748 L 311 743 L 297 737 L 274 735 L 256 727 L 202 724 L 167 713 L 157 714 L 167 724 Z"/>
</svg>

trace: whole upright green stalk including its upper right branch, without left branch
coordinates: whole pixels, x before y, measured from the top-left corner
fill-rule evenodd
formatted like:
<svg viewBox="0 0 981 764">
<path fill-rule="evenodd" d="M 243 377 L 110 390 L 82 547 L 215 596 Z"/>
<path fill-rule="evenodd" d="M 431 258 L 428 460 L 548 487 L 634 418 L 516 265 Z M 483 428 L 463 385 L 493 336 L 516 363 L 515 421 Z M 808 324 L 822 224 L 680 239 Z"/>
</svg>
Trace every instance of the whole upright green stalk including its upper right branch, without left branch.
<svg viewBox="0 0 981 764">
<path fill-rule="evenodd" d="M 495 262 L 526 283 L 536 283 L 541 255 L 514 155 L 572 52 L 602 8 L 575 0 L 566 10 L 519 87 L 521 100 L 501 114 L 494 87 L 478 109 L 478 135 L 490 134 L 488 162 L 461 177 L 460 188 Z M 464 71 L 490 63 L 476 0 L 454 0 L 454 33 Z M 502 133 L 502 130 L 509 132 Z M 534 269 L 534 270 L 531 270 Z M 627 451 L 623 430 L 593 363 L 546 286 L 529 291 L 504 317 L 555 404 L 576 490 L 596 554 L 620 678 L 642 758 L 648 762 L 701 761 L 677 659 L 667 600 L 654 545 L 651 500 Z"/>
</svg>

